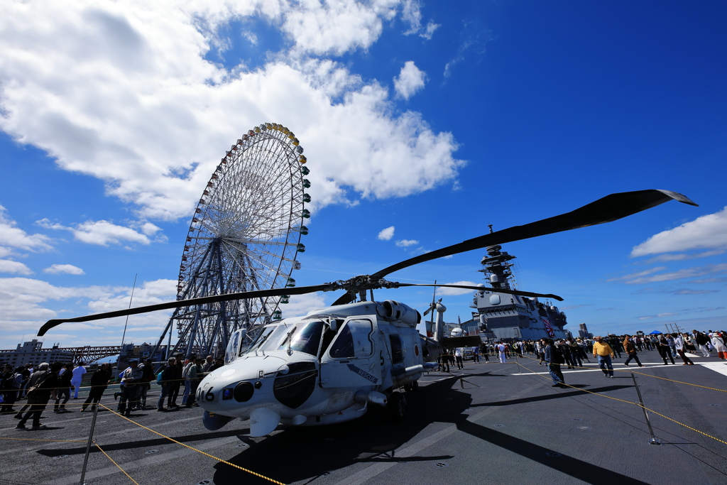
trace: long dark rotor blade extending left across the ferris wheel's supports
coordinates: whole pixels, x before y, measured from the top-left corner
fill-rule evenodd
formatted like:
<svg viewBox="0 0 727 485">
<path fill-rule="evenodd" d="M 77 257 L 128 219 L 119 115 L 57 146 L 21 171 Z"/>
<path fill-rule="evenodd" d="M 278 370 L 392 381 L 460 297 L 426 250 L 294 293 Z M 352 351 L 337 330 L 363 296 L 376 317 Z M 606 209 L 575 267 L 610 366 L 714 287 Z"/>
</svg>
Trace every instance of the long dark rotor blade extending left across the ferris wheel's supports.
<svg viewBox="0 0 727 485">
<path fill-rule="evenodd" d="M 158 305 L 146 305 L 136 308 L 126 308 L 125 310 L 109 311 L 106 313 L 95 313 L 94 315 L 78 316 L 76 318 L 56 318 L 54 320 L 47 321 L 43 326 L 41 326 L 38 335 L 39 337 L 42 337 L 46 332 L 48 332 L 49 329 L 52 329 L 54 326 L 58 326 L 67 322 L 103 320 L 104 318 L 113 318 L 116 316 L 137 315 L 139 313 L 148 313 L 150 311 L 169 310 L 169 308 L 204 305 L 206 303 L 228 302 L 230 300 L 249 300 L 251 298 L 278 297 L 283 294 L 315 293 L 322 292 L 328 287 L 329 285 L 327 284 L 318 284 L 314 286 L 299 286 L 297 288 L 260 289 L 254 292 L 214 294 L 209 297 L 192 298 L 190 300 L 177 300 L 174 302 L 159 303 Z"/>
</svg>

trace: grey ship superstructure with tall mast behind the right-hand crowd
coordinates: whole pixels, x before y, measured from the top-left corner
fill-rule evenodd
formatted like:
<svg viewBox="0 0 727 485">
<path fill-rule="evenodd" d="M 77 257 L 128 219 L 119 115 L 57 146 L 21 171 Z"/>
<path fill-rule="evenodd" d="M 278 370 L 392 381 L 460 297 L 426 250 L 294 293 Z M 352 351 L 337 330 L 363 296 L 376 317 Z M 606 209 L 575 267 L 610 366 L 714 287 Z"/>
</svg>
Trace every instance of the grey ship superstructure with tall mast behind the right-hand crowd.
<svg viewBox="0 0 727 485">
<path fill-rule="evenodd" d="M 470 308 L 476 308 L 481 332 L 494 334 L 497 340 L 537 340 L 543 337 L 570 337 L 563 327 L 566 314 L 550 302 L 539 302 L 537 298 L 521 297 L 517 294 L 498 293 L 498 289 L 512 289 L 511 260 L 515 256 L 502 251 L 502 246 L 489 246 L 482 258 L 483 268 L 490 286 L 476 292 Z"/>
</svg>

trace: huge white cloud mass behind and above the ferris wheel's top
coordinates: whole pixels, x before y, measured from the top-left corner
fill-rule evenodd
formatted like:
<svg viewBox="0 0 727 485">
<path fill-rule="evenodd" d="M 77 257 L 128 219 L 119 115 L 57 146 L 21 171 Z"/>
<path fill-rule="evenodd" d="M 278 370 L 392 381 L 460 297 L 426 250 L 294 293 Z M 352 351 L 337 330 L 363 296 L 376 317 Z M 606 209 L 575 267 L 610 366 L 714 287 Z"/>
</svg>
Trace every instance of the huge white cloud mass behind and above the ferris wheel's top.
<svg viewBox="0 0 727 485">
<path fill-rule="evenodd" d="M 462 167 L 451 133 L 396 111 L 377 81 L 304 55 L 366 49 L 397 9 L 393 0 L 7 4 L 0 128 L 105 181 L 147 220 L 188 217 L 225 149 L 263 121 L 305 147 L 313 209 L 348 202 L 348 191 L 426 191 Z M 254 70 L 204 59 L 218 28 L 254 16 L 287 36 L 287 50 Z"/>
</svg>

